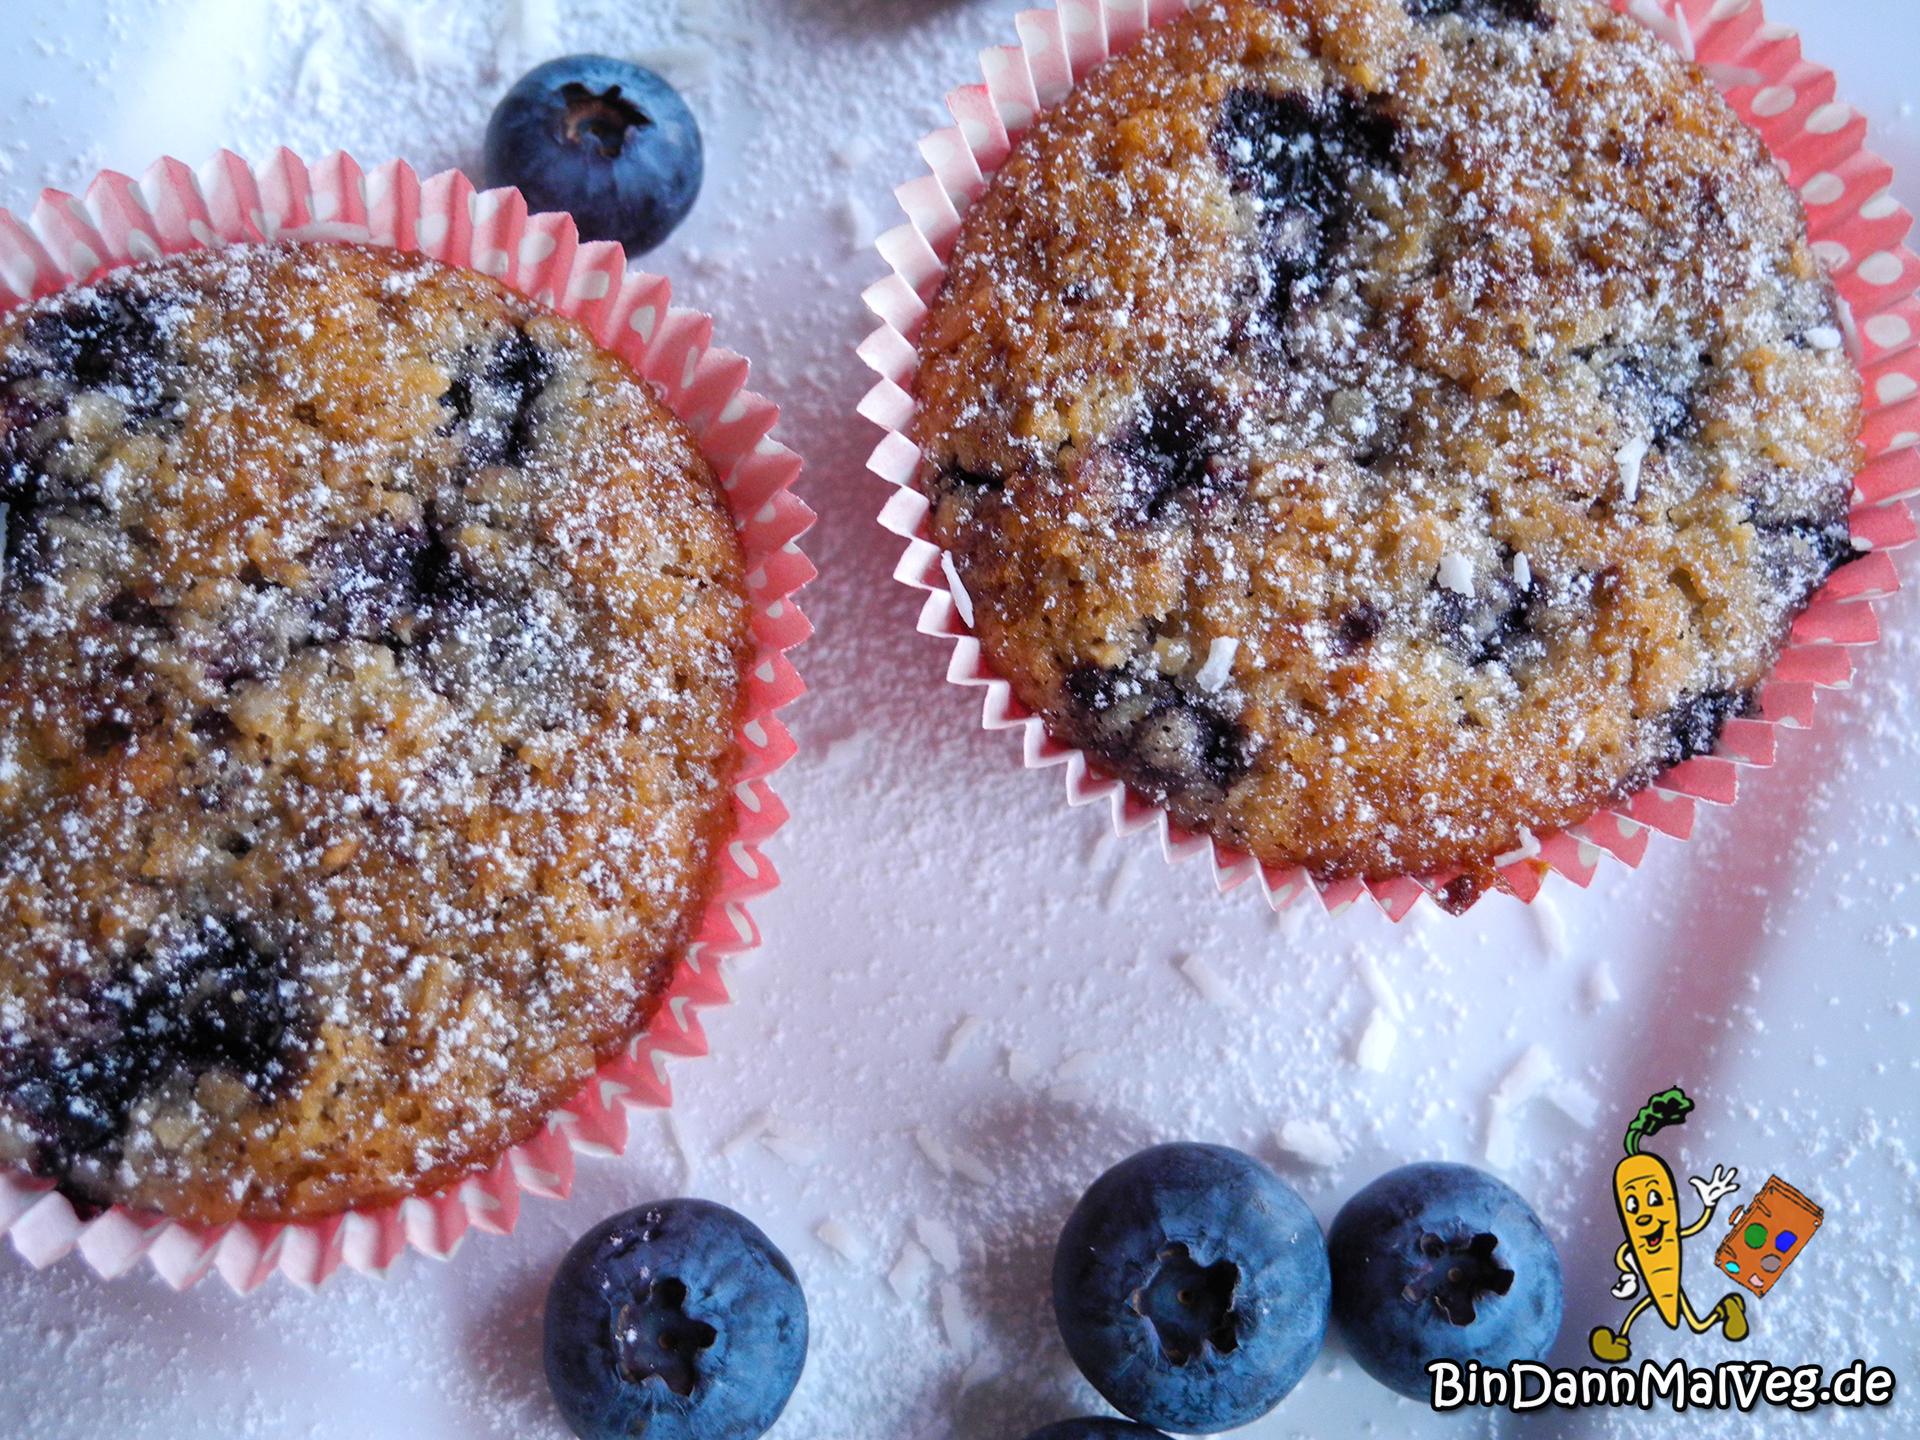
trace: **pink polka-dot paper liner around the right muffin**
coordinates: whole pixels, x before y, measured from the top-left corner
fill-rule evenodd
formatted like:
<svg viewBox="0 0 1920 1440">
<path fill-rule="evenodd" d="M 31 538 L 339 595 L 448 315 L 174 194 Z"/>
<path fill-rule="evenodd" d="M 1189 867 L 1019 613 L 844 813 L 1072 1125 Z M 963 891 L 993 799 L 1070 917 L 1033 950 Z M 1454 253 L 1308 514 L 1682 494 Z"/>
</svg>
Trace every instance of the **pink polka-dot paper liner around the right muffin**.
<svg viewBox="0 0 1920 1440">
<path fill-rule="evenodd" d="M 1899 588 L 1889 551 L 1916 538 L 1905 499 L 1920 492 L 1920 259 L 1905 246 L 1912 217 L 1893 200 L 1893 167 L 1864 148 L 1866 121 L 1834 98 L 1834 73 L 1801 58 L 1799 36 L 1768 25 L 1761 0 L 1613 0 L 1684 58 L 1705 69 L 1734 109 L 1753 125 L 1774 163 L 1807 205 L 1809 238 L 1839 290 L 1845 342 L 1864 380 L 1868 463 L 1855 480 L 1849 526 L 1859 559 L 1834 572 L 1793 624 L 1788 647 L 1761 689 L 1761 716 L 1728 720 L 1713 755 L 1686 760 L 1611 810 L 1501 856 L 1500 889 L 1532 900 L 1546 872 L 1590 885 L 1601 854 L 1638 866 L 1651 831 L 1688 839 L 1697 806 L 1732 804 L 1741 766 L 1774 760 L 1778 730 L 1812 724 L 1814 695 L 1853 678 L 1853 647 L 1880 637 L 1874 601 Z M 1304 870 L 1263 866 L 1206 835 L 1102 772 L 1085 751 L 1046 733 L 981 659 L 970 605 L 956 593 L 947 555 L 927 536 L 927 501 L 912 488 L 920 449 L 906 436 L 914 417 L 914 336 L 947 276 L 960 217 L 987 188 L 1012 140 L 1041 109 L 1064 100 L 1102 60 L 1148 29 L 1187 13 L 1187 0 L 1058 0 L 1058 10 L 1016 17 L 1018 46 L 981 54 L 985 84 L 947 96 L 954 123 L 927 134 L 920 154 L 929 173 L 895 194 L 906 225 L 876 248 L 893 271 L 864 300 L 881 324 L 860 344 L 879 382 L 860 415 L 885 430 L 868 468 L 895 486 L 879 524 L 906 541 L 895 578 L 925 593 L 918 628 L 952 647 L 947 680 L 985 691 L 987 730 L 1014 730 L 1029 770 L 1058 766 L 1068 804 L 1106 801 L 1114 831 L 1152 831 L 1169 862 L 1206 854 L 1219 889 L 1258 883 L 1279 910 L 1317 893 L 1329 912 L 1371 899 L 1390 918 L 1453 876 L 1319 881 Z M 1196 6 L 1194 6 L 1196 8 Z"/>
</svg>

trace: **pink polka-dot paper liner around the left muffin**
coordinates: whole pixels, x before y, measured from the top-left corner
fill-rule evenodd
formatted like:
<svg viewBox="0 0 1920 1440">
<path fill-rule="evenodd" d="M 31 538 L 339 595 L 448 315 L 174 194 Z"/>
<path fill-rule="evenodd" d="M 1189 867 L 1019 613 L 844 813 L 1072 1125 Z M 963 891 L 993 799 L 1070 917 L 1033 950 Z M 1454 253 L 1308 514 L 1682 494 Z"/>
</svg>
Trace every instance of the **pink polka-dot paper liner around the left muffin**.
<svg viewBox="0 0 1920 1440">
<path fill-rule="evenodd" d="M 146 1260 L 177 1290 L 209 1269 L 246 1292 L 275 1271 L 309 1286 L 340 1265 L 378 1273 L 409 1246 L 447 1258 L 468 1231 L 511 1233 L 522 1192 L 564 1198 L 574 1152 L 620 1154 L 630 1106 L 672 1102 L 666 1058 L 707 1052 L 697 1012 L 726 1002 L 722 962 L 760 939 L 747 902 L 778 883 L 760 847 L 787 818 L 770 780 L 793 741 L 776 712 L 804 689 L 785 651 L 810 634 L 793 591 L 814 576 L 795 543 L 814 516 L 791 492 L 799 455 L 770 434 L 778 409 L 745 388 L 747 361 L 712 344 L 708 317 L 672 305 L 666 278 L 628 271 L 616 244 L 582 244 L 568 215 L 528 215 L 518 190 L 474 190 L 459 171 L 422 180 L 403 161 L 363 173 L 344 154 L 307 167 L 288 150 L 257 169 L 223 152 L 198 177 L 177 159 L 157 161 L 138 180 L 109 171 L 81 198 L 42 194 L 29 221 L 0 209 L 0 313 L 121 265 L 261 240 L 419 250 L 586 324 L 687 422 L 720 476 L 747 555 L 755 657 L 739 726 L 735 829 L 659 1012 L 492 1169 L 378 1210 L 211 1229 L 119 1206 L 83 1219 L 46 1181 L 0 1169 L 0 1233 L 29 1263 L 50 1265 L 77 1250 L 102 1277 L 115 1277 Z"/>
</svg>

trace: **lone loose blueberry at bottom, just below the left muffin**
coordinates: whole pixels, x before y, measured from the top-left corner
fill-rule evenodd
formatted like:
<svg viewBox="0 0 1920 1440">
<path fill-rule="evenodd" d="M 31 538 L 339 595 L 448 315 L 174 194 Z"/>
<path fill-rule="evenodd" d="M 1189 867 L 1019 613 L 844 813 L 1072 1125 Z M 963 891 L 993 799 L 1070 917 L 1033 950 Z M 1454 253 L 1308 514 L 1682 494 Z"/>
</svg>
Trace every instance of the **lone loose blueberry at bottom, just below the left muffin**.
<svg viewBox="0 0 1920 1440">
<path fill-rule="evenodd" d="M 605 1219 L 547 1290 L 547 1384 L 582 1440 L 753 1440 L 806 1363 L 806 1298 L 758 1227 L 707 1200 Z"/>
</svg>

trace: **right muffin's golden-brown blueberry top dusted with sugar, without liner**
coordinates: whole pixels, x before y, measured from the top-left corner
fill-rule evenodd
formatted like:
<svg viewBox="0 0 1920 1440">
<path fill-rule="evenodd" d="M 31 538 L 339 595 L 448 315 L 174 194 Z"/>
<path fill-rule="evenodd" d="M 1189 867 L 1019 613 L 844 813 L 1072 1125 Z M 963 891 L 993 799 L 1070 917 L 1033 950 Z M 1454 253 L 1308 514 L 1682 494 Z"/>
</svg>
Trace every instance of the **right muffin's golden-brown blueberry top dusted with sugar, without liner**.
<svg viewBox="0 0 1920 1440">
<path fill-rule="evenodd" d="M 993 668 L 1188 828 L 1453 908 L 1709 751 L 1849 559 L 1797 200 L 1588 0 L 1217 0 L 1014 146 L 918 338 Z"/>
</svg>

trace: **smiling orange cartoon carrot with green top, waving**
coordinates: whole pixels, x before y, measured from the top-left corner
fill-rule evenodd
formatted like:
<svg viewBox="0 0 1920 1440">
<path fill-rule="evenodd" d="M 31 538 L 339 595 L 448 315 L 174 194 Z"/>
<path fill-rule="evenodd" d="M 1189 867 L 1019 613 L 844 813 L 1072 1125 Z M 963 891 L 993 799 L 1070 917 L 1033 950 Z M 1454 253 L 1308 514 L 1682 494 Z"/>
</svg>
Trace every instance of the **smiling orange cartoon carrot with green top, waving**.
<svg viewBox="0 0 1920 1440">
<path fill-rule="evenodd" d="M 1713 1223 L 1713 1212 L 1720 1200 L 1740 1188 L 1740 1181 L 1734 1179 L 1740 1171 L 1715 1165 L 1711 1181 L 1690 1175 L 1688 1185 L 1699 1192 L 1705 1210 L 1699 1219 L 1680 1229 L 1680 1187 L 1674 1185 L 1674 1173 L 1665 1160 L 1640 1148 L 1640 1142 L 1655 1131 L 1686 1123 L 1692 1108 L 1693 1102 L 1678 1087 L 1661 1091 L 1642 1106 L 1634 1123 L 1626 1127 L 1626 1160 L 1613 1167 L 1613 1204 L 1620 1215 L 1620 1229 L 1626 1231 L 1626 1240 L 1613 1256 L 1613 1263 L 1620 1271 L 1613 1298 L 1630 1300 L 1642 1281 L 1645 1281 L 1647 1294 L 1626 1311 L 1619 1334 L 1605 1325 L 1594 1327 L 1586 1340 L 1594 1359 L 1613 1363 L 1626 1359 L 1632 1354 L 1626 1332 L 1647 1306 L 1657 1306 L 1661 1319 L 1672 1331 L 1680 1329 L 1684 1317 L 1693 1334 L 1720 1325 L 1728 1340 L 1747 1338 L 1747 1308 L 1738 1292 L 1724 1296 L 1701 1319 L 1693 1313 L 1686 1290 L 1680 1288 L 1680 1242 Z"/>
</svg>

